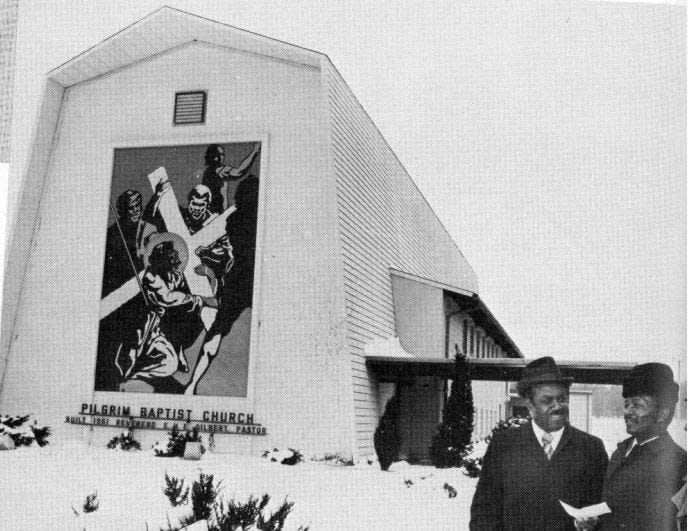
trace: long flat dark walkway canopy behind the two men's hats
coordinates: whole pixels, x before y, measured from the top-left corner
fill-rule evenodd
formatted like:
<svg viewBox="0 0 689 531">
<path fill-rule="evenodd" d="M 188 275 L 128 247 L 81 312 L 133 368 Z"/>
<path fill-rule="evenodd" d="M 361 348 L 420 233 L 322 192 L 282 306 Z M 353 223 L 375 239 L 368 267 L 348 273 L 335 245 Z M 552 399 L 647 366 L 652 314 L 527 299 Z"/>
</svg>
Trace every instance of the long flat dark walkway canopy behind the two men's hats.
<svg viewBox="0 0 689 531">
<path fill-rule="evenodd" d="M 532 360 L 524 358 L 469 358 L 472 380 L 516 382 Z M 577 383 L 622 385 L 627 372 L 634 366 L 625 362 L 560 361 L 564 376 Z M 414 376 L 435 376 L 451 379 L 454 360 L 446 358 L 392 358 L 366 356 L 366 366 L 379 381 L 396 381 Z"/>
</svg>

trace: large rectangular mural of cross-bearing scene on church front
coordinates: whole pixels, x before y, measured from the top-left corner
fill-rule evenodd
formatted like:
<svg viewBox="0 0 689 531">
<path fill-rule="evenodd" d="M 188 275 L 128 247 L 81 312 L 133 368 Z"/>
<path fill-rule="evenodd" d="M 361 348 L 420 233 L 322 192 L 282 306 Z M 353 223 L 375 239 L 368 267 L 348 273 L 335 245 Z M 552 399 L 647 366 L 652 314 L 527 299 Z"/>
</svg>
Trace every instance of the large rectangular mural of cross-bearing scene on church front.
<svg viewBox="0 0 689 531">
<path fill-rule="evenodd" d="M 260 152 L 115 150 L 96 391 L 246 396 Z"/>
</svg>

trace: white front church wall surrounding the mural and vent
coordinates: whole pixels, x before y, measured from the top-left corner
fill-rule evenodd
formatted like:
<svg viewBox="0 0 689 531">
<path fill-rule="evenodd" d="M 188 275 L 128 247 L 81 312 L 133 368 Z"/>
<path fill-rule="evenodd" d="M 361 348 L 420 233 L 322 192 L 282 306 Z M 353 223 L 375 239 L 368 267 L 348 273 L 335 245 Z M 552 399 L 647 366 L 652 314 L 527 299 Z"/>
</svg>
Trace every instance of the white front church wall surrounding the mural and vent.
<svg viewBox="0 0 689 531">
<path fill-rule="evenodd" d="M 208 90 L 207 122 L 174 127 L 174 93 L 190 89 Z M 39 129 L 49 125 L 43 119 Z M 261 138 L 263 207 L 249 396 L 94 395 L 113 147 Z M 40 202 L 40 219 L 2 411 L 34 412 L 40 422 L 73 436 L 80 428 L 61 421 L 82 402 L 248 411 L 268 428 L 269 438 L 216 437 L 218 447 L 257 452 L 290 445 L 307 453 L 316 448 L 351 453 L 351 423 L 342 421 L 351 417 L 351 372 L 344 355 L 343 279 L 327 138 L 318 69 L 202 43 L 68 89 L 45 193 L 40 201 L 40 194 L 30 198 L 30 204 Z M 41 155 L 46 145 L 36 142 L 34 153 Z M 40 181 L 39 170 L 34 176 Z"/>
</svg>

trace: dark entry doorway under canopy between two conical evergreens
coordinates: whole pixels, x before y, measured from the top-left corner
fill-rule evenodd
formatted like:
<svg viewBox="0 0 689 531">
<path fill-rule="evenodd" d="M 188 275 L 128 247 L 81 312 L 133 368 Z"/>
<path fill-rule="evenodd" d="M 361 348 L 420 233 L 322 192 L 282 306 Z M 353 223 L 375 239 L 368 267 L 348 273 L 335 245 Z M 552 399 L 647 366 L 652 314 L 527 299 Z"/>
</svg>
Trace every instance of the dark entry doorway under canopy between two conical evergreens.
<svg viewBox="0 0 689 531">
<path fill-rule="evenodd" d="M 430 461 L 430 447 L 440 419 L 442 385 L 420 377 L 399 385 L 400 459 L 410 463 Z"/>
</svg>

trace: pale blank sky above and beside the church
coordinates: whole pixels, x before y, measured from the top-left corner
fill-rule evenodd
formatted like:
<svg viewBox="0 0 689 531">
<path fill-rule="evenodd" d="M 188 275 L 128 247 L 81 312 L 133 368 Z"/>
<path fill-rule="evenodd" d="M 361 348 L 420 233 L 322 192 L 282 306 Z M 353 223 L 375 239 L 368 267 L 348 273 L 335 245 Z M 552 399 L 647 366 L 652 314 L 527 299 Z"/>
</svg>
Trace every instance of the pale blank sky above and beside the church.
<svg viewBox="0 0 689 531">
<path fill-rule="evenodd" d="M 44 74 L 162 5 L 20 4 L 11 214 Z M 527 358 L 686 358 L 683 2 L 166 4 L 327 54 Z"/>
</svg>

